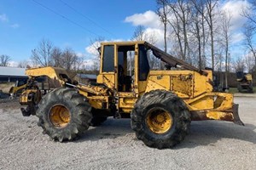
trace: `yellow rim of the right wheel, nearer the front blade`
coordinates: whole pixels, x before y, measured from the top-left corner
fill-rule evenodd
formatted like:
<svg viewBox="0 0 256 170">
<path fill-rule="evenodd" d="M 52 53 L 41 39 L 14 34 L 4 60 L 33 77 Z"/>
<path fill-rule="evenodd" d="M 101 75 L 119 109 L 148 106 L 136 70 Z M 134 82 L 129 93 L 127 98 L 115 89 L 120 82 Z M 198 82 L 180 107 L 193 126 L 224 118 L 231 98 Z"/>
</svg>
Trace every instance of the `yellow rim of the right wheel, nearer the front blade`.
<svg viewBox="0 0 256 170">
<path fill-rule="evenodd" d="M 172 127 L 172 115 L 163 108 L 153 108 L 148 111 L 146 123 L 153 133 L 166 133 Z"/>
</svg>

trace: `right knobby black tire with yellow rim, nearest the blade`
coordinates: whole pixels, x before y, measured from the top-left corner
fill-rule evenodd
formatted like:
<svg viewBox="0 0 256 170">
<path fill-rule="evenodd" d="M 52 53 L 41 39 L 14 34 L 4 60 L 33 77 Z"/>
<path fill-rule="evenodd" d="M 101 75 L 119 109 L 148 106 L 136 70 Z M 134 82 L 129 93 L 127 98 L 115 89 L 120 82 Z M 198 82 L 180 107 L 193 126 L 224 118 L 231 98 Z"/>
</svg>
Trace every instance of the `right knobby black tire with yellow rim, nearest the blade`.
<svg viewBox="0 0 256 170">
<path fill-rule="evenodd" d="M 143 94 L 131 112 L 131 128 L 149 147 L 172 148 L 189 131 L 190 113 L 182 99 L 166 90 Z"/>
</svg>

